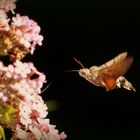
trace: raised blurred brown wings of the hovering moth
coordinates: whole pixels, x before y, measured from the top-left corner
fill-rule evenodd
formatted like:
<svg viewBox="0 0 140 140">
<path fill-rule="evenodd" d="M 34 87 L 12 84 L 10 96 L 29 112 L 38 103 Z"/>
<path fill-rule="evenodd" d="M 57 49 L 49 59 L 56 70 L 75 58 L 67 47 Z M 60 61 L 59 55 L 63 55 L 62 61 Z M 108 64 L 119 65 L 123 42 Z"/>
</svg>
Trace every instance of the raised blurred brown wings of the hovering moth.
<svg viewBox="0 0 140 140">
<path fill-rule="evenodd" d="M 111 59 L 107 63 L 99 66 L 99 75 L 108 75 L 117 79 L 119 76 L 123 76 L 133 63 L 133 57 L 127 57 L 127 52 L 123 52 Z"/>
</svg>

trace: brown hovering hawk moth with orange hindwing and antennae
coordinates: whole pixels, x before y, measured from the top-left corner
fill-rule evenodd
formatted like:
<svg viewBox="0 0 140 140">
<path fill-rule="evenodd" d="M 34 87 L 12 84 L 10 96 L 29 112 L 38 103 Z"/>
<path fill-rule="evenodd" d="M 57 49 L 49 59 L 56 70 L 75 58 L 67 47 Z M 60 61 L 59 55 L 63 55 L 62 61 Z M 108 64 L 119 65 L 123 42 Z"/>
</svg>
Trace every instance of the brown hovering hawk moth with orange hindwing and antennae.
<svg viewBox="0 0 140 140">
<path fill-rule="evenodd" d="M 80 61 L 75 59 L 82 69 L 73 71 L 78 71 L 81 77 L 95 86 L 104 87 L 106 91 L 115 88 L 136 91 L 133 85 L 123 77 L 133 63 L 133 57 L 127 54 L 127 52 L 120 53 L 105 64 L 90 68 L 85 68 Z"/>
</svg>

